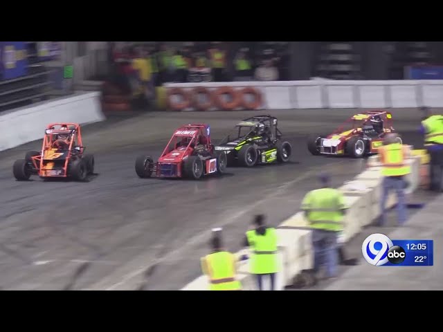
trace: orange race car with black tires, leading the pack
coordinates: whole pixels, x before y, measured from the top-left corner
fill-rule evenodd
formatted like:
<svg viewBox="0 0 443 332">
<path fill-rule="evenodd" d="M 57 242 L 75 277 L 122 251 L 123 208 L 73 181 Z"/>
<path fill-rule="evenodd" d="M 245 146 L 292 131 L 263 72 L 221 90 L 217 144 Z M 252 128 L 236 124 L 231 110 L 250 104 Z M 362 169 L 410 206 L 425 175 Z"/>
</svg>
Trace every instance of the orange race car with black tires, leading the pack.
<svg viewBox="0 0 443 332">
<path fill-rule="evenodd" d="M 73 178 L 87 180 L 94 172 L 94 157 L 84 154 L 80 124 L 51 123 L 46 127 L 42 151 L 28 151 L 24 159 L 15 160 L 12 167 L 15 178 Z"/>
</svg>

